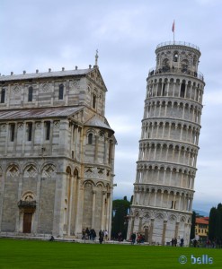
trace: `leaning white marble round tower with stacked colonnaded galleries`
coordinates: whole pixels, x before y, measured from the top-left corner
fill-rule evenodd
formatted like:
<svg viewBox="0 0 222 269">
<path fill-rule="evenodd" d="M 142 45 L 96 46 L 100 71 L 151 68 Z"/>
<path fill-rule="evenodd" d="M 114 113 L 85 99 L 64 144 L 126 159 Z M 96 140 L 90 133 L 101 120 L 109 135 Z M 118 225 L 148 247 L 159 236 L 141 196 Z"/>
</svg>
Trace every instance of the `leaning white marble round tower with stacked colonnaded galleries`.
<svg viewBox="0 0 222 269">
<path fill-rule="evenodd" d="M 150 244 L 184 239 L 188 245 L 205 82 L 200 48 L 161 43 L 147 77 L 147 93 L 129 215 L 128 236 Z"/>
</svg>

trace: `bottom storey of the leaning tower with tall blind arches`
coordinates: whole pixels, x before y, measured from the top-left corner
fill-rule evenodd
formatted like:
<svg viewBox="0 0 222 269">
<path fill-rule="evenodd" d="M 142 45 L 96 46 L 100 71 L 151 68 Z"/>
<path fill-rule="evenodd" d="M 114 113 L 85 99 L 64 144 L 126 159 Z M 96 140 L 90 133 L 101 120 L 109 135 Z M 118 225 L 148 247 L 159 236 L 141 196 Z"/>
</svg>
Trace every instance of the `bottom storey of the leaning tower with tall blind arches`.
<svg viewBox="0 0 222 269">
<path fill-rule="evenodd" d="M 132 233 L 141 233 L 150 245 L 167 246 L 177 239 L 177 246 L 189 246 L 191 213 L 178 210 L 132 206 L 129 218 L 128 239 Z"/>
</svg>

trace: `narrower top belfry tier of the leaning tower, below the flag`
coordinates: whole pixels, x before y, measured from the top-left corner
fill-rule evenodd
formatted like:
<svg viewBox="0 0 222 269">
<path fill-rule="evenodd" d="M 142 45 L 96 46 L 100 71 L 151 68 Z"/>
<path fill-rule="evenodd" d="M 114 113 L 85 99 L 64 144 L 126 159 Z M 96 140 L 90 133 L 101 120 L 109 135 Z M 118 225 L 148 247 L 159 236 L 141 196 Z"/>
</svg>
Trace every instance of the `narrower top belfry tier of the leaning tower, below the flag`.
<svg viewBox="0 0 222 269">
<path fill-rule="evenodd" d="M 198 73 L 200 48 L 186 42 L 164 42 L 155 49 L 156 70 L 168 72 L 180 70 L 181 73 Z"/>
</svg>

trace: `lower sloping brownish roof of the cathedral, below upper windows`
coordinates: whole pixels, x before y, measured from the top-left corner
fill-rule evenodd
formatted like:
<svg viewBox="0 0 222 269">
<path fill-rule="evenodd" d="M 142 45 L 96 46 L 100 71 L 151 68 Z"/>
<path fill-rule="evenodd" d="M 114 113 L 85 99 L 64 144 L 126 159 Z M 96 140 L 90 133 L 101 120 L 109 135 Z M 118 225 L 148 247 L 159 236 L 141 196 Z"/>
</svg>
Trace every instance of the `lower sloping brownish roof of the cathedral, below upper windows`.
<svg viewBox="0 0 222 269">
<path fill-rule="evenodd" d="M 68 117 L 83 107 L 22 108 L 0 110 L 0 120 L 42 117 Z"/>
</svg>

